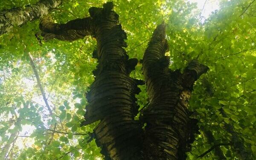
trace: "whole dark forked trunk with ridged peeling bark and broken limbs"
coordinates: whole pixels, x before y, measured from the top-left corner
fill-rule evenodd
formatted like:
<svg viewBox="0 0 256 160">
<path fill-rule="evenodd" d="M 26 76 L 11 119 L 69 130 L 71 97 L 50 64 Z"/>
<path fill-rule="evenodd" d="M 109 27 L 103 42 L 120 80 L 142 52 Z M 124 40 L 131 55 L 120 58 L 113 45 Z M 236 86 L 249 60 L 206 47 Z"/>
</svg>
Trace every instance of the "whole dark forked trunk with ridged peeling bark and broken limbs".
<svg viewBox="0 0 256 160">
<path fill-rule="evenodd" d="M 207 67 L 193 60 L 184 72 L 170 71 L 165 40 L 165 24 L 154 35 L 143 57 L 143 74 L 149 95 L 149 106 L 140 120 L 135 94 L 141 80 L 129 77 L 137 59 L 128 59 L 126 34 L 112 11 L 113 3 L 89 9 L 90 17 L 55 24 L 49 17 L 41 21 L 45 40 L 56 38 L 73 41 L 92 35 L 97 40 L 93 57 L 98 59 L 94 83 L 87 93 L 84 114 L 87 125 L 100 120 L 91 134 L 106 160 L 184 160 L 186 151 L 198 131 L 197 121 L 189 118 L 188 100 L 192 86 Z M 145 129 L 143 125 L 146 123 Z"/>
</svg>

